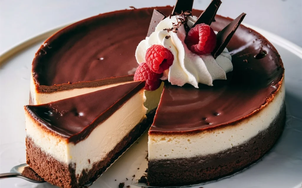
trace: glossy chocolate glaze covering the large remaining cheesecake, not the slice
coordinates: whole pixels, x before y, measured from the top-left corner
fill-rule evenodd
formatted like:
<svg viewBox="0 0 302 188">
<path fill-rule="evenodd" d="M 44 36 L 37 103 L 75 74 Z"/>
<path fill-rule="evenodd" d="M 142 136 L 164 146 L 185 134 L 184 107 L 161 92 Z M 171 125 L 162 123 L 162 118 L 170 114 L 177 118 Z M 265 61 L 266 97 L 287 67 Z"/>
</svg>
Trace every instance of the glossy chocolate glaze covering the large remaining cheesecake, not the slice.
<svg viewBox="0 0 302 188">
<path fill-rule="evenodd" d="M 173 9 L 156 8 L 166 15 Z M 192 14 L 199 16 L 201 12 L 193 10 Z M 68 81 L 131 77 L 129 71 L 137 67 L 135 49 L 146 37 L 152 13 L 153 8 L 115 11 L 59 31 L 46 41 L 47 45 L 41 47 L 34 59 L 36 82 L 52 86 Z M 231 21 L 217 15 L 211 27 L 220 31 Z M 281 58 L 271 43 L 241 25 L 227 48 L 234 67 L 227 74 L 228 79 L 214 81 L 213 87 L 200 85 L 200 89 L 166 84 L 149 133 L 202 130 L 233 122 L 271 99 L 284 73 Z M 104 59 L 98 60 L 101 57 Z"/>
</svg>

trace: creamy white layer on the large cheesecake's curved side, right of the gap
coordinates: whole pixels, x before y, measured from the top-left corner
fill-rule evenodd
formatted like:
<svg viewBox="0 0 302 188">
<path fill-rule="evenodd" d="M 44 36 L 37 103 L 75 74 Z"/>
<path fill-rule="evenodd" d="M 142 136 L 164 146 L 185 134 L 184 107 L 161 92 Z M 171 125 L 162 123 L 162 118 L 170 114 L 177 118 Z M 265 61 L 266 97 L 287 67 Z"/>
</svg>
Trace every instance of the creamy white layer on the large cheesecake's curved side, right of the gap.
<svg viewBox="0 0 302 188">
<path fill-rule="evenodd" d="M 148 141 L 149 161 L 210 155 L 241 145 L 270 126 L 280 112 L 284 99 L 283 84 L 274 100 L 257 115 L 236 125 L 192 134 L 151 134 Z"/>
</svg>

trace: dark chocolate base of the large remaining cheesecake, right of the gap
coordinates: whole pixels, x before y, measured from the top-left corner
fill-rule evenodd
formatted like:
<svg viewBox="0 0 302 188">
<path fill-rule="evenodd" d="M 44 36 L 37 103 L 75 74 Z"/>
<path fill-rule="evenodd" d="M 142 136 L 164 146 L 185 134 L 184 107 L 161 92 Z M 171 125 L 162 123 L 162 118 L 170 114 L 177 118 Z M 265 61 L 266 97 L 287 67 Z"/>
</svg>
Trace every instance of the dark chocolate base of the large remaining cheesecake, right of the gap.
<svg viewBox="0 0 302 188">
<path fill-rule="evenodd" d="M 173 186 L 215 180 L 242 170 L 272 148 L 285 124 L 285 103 L 268 129 L 248 142 L 223 152 L 194 158 L 152 160 L 148 162 L 150 186 Z"/>
</svg>

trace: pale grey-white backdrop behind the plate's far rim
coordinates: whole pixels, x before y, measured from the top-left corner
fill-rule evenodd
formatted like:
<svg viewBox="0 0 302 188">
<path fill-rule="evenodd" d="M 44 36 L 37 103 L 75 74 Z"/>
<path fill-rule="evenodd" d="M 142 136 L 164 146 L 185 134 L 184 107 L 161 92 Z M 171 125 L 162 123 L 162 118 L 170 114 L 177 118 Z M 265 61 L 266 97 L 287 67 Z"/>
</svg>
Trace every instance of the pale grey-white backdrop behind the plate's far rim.
<svg viewBox="0 0 302 188">
<path fill-rule="evenodd" d="M 244 23 L 271 31 L 302 46 L 301 0 L 222 0 L 218 14 L 236 18 L 247 13 Z M 210 0 L 195 0 L 204 9 Z M 99 13 L 174 5 L 175 0 L 1 0 L 0 53 L 46 30 Z"/>
</svg>

